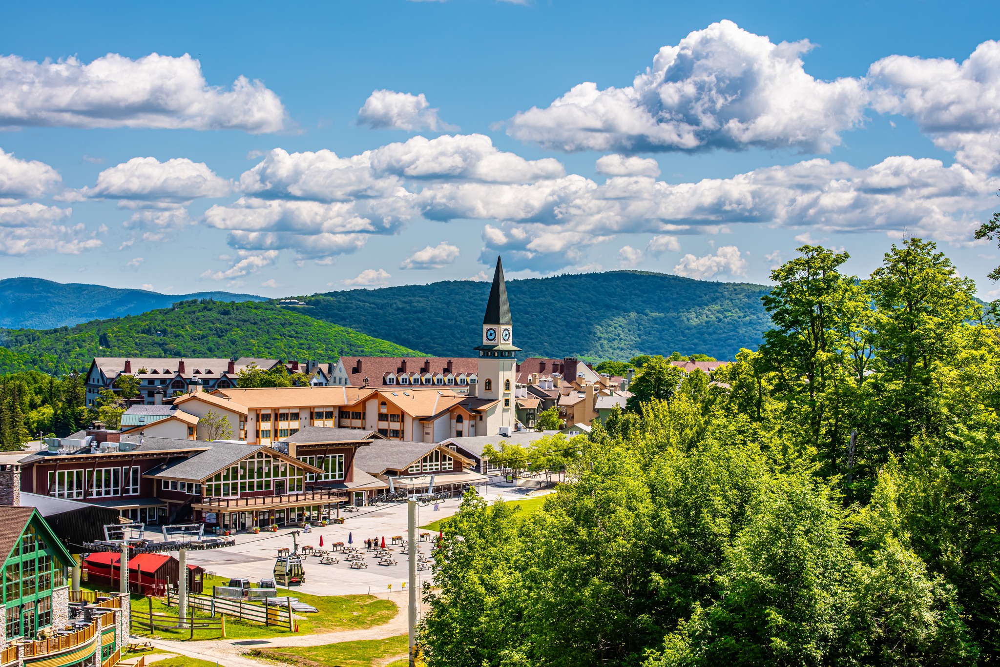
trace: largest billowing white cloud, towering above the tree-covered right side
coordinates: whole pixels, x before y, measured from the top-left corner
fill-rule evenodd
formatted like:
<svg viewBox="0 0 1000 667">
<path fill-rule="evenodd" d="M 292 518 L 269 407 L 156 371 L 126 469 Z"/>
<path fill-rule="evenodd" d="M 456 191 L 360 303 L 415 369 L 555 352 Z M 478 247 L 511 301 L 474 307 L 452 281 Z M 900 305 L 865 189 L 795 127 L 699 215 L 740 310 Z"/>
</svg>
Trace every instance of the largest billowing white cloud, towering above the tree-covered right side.
<svg viewBox="0 0 1000 667">
<path fill-rule="evenodd" d="M 807 74 L 802 40 L 774 44 L 732 21 L 664 46 L 631 86 L 586 82 L 508 121 L 521 141 L 562 151 L 794 148 L 827 152 L 863 120 L 858 79 Z"/>
</svg>

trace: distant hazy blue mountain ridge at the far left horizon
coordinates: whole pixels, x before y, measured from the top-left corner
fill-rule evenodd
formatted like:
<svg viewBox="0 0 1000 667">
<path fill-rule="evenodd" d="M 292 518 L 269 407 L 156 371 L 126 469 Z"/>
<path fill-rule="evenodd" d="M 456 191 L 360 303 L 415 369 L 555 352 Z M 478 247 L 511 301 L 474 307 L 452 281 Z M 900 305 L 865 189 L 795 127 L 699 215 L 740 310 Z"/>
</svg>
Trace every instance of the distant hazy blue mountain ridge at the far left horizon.
<svg viewBox="0 0 1000 667">
<path fill-rule="evenodd" d="M 7 278 L 0 280 L 0 327 L 48 329 L 73 326 L 91 320 L 138 315 L 156 308 L 169 308 L 175 301 L 187 299 L 266 300 L 253 294 L 160 294 L 102 285 L 63 284 L 41 278 Z"/>
</svg>

